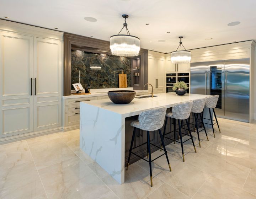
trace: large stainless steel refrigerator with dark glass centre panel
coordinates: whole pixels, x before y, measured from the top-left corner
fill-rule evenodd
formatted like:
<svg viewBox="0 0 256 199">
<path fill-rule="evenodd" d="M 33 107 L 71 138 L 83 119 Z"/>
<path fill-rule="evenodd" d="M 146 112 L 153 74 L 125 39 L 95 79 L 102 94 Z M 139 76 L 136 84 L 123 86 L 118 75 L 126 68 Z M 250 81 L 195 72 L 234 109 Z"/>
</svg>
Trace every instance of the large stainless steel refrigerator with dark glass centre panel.
<svg viewBox="0 0 256 199">
<path fill-rule="evenodd" d="M 190 93 L 219 95 L 218 116 L 249 122 L 250 58 L 191 63 Z"/>
</svg>

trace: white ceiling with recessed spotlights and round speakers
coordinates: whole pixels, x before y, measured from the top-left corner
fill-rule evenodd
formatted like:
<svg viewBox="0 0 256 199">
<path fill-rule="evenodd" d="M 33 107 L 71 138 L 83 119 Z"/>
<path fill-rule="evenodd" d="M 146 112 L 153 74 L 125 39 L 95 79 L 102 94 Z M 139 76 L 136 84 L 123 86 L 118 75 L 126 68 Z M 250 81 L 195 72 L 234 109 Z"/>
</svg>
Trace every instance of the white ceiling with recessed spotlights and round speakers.
<svg viewBox="0 0 256 199">
<path fill-rule="evenodd" d="M 128 14 L 141 48 L 166 53 L 176 50 L 178 36 L 186 49 L 256 40 L 255 8 L 256 0 L 0 0 L 0 18 L 109 41 Z M 227 26 L 233 21 L 241 23 Z"/>
</svg>

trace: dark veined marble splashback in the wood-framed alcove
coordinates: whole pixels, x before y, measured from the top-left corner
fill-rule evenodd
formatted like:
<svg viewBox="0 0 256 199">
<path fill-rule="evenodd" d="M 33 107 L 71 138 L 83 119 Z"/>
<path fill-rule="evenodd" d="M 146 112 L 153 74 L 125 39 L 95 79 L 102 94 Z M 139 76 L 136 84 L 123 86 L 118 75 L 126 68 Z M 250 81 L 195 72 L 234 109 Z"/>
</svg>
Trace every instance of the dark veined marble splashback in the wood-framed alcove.
<svg viewBox="0 0 256 199">
<path fill-rule="evenodd" d="M 79 83 L 94 88 L 118 88 L 118 74 L 127 74 L 127 86 L 130 87 L 131 60 L 126 57 L 97 54 L 80 50 L 71 51 L 71 84 Z M 71 88 L 74 87 L 71 85 Z"/>
</svg>

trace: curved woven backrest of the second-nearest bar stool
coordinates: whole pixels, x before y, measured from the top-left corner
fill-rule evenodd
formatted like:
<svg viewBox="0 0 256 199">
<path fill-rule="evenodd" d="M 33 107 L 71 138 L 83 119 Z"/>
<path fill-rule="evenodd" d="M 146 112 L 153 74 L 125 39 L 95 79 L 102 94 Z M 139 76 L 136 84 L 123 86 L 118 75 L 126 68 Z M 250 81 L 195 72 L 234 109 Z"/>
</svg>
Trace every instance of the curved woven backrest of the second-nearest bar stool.
<svg viewBox="0 0 256 199">
<path fill-rule="evenodd" d="M 172 115 L 174 119 L 187 119 L 190 117 L 193 102 L 184 102 L 175 104 L 172 107 Z"/>
</svg>

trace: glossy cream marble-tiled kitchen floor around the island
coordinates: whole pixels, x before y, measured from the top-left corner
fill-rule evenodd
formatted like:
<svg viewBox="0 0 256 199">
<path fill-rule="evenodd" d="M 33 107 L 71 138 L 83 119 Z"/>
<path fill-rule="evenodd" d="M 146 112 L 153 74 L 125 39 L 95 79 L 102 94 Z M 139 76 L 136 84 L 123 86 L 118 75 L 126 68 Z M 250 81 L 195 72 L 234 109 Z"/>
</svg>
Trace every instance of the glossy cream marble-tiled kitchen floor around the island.
<svg viewBox="0 0 256 199">
<path fill-rule="evenodd" d="M 219 118 L 222 133 L 209 141 L 201 133 L 201 148 L 193 133 L 185 142 L 166 147 L 165 156 L 149 165 L 140 160 L 125 172 L 119 185 L 79 148 L 79 130 L 55 133 L 0 145 L 0 198 L 3 199 L 256 199 L 256 123 Z M 159 155 L 156 151 L 152 156 Z"/>
</svg>

